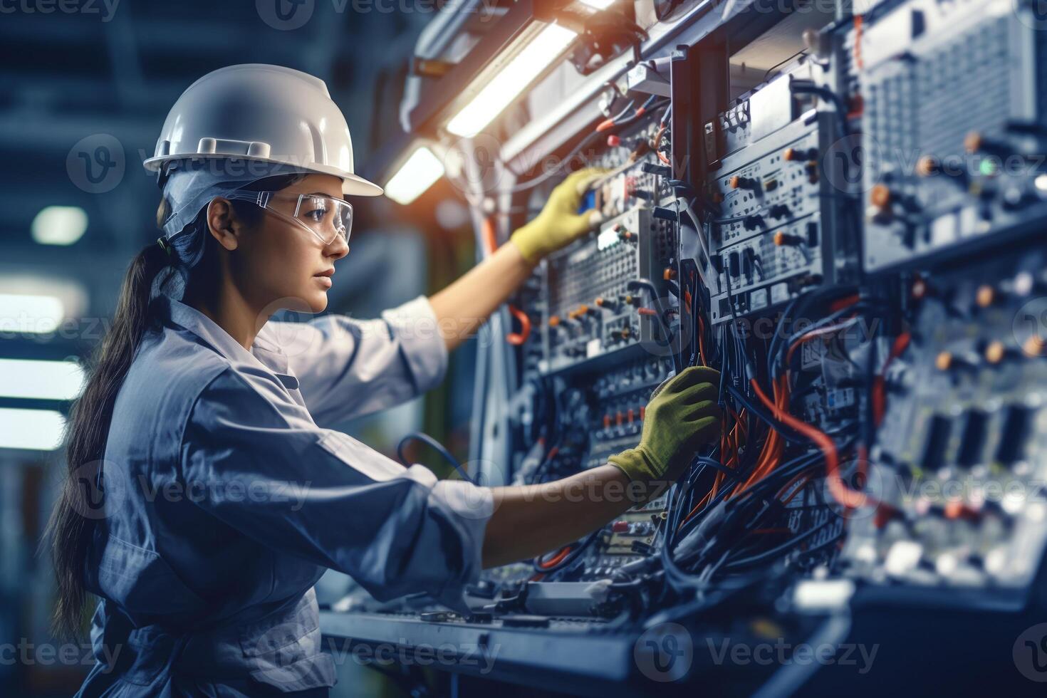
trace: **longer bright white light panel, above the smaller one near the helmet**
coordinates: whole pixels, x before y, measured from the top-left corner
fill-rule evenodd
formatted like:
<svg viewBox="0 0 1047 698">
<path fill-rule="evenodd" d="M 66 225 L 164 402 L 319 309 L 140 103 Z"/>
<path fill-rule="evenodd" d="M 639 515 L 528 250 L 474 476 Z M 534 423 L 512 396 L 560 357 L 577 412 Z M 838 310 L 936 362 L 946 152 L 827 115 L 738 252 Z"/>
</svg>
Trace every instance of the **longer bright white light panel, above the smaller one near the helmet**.
<svg viewBox="0 0 1047 698">
<path fill-rule="evenodd" d="M 577 36 L 558 24 L 545 25 L 454 115 L 447 123 L 447 130 L 466 138 L 475 136 L 559 58 Z"/>
</svg>

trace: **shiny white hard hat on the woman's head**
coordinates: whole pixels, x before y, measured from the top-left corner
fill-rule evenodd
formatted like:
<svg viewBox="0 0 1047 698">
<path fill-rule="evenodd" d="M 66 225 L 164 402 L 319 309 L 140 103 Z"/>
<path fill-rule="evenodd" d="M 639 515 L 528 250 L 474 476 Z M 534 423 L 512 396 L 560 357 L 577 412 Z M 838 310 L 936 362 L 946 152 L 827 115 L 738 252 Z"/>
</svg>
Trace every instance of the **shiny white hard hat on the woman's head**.
<svg viewBox="0 0 1047 698">
<path fill-rule="evenodd" d="M 185 158 L 236 158 L 334 175 L 343 195 L 376 197 L 377 184 L 353 174 L 353 140 L 319 77 L 249 63 L 209 72 L 171 108 L 146 170 Z"/>
</svg>

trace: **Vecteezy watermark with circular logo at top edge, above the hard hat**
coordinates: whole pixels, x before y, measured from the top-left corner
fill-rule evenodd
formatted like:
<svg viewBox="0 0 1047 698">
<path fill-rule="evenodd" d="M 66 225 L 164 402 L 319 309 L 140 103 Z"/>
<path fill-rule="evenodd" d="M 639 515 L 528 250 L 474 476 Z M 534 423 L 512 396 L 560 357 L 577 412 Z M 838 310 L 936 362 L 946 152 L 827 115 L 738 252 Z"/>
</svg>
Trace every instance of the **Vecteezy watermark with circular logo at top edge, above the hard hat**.
<svg viewBox="0 0 1047 698">
<path fill-rule="evenodd" d="M 493 17 L 495 0 L 481 0 L 477 5 L 470 5 L 465 0 L 448 0 L 439 3 L 437 0 L 330 0 L 331 9 L 336 15 L 351 12 L 354 15 L 429 15 L 443 9 L 444 12 L 478 13 L 480 21 L 486 22 Z M 254 0 L 254 8 L 259 18 L 273 29 L 292 31 L 300 29 L 312 19 L 316 9 L 316 0 Z"/>
</svg>

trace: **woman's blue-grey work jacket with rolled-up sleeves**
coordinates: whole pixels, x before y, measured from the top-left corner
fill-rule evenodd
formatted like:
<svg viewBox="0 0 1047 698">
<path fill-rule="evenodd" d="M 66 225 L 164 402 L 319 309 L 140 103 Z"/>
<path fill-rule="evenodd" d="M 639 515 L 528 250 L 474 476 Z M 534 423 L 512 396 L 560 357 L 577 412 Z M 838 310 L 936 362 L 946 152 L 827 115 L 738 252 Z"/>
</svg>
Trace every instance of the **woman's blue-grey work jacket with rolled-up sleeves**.
<svg viewBox="0 0 1047 698">
<path fill-rule="evenodd" d="M 268 322 L 250 351 L 161 296 L 116 397 L 87 563 L 101 602 L 83 696 L 326 695 L 313 584 L 465 610 L 491 492 L 322 428 L 443 378 L 419 297 L 381 319 Z M 91 515 L 91 513 L 87 513 Z"/>
</svg>

